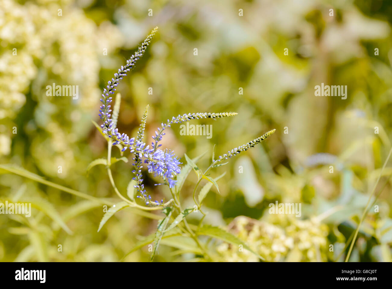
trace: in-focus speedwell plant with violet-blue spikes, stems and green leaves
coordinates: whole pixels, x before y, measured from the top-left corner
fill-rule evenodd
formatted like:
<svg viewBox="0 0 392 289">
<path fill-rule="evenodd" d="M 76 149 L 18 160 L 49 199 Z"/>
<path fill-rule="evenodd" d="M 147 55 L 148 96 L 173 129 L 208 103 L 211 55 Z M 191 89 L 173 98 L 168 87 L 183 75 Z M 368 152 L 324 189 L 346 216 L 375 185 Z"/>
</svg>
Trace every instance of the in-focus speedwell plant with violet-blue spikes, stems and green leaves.
<svg viewBox="0 0 392 289">
<path fill-rule="evenodd" d="M 206 235 L 211 236 L 214 238 L 221 239 L 223 241 L 232 243 L 232 244 L 240 244 L 243 245 L 245 249 L 252 251 L 247 245 L 244 245 L 242 241 L 234 237 L 233 235 L 225 232 L 224 230 L 218 227 L 211 227 L 208 225 L 197 227 L 195 230 L 187 223 L 185 217 L 190 214 L 191 212 L 200 212 L 205 216 L 204 212 L 201 210 L 201 204 L 203 199 L 207 195 L 209 189 L 214 185 L 217 190 L 219 191 L 218 184 L 216 181 L 221 177 L 217 177 L 213 179 L 207 172 L 214 167 L 225 165 L 223 161 L 227 160 L 228 158 L 237 155 L 243 151 L 248 150 L 249 148 L 254 147 L 256 144 L 260 143 L 271 134 L 275 132 L 275 130 L 270 130 L 269 132 L 265 133 L 261 137 L 250 141 L 249 143 L 243 144 L 238 148 L 234 148 L 227 152 L 227 154 L 223 154 L 218 156 L 216 159 L 214 155 L 212 155 L 212 163 L 211 165 L 203 172 L 198 166 L 196 166 L 196 162 L 198 158 L 190 159 L 185 154 L 185 159 L 187 164 L 182 168 L 180 165 L 180 159 L 178 156 L 174 154 L 172 150 L 161 150 L 159 143 L 165 135 L 165 129 L 170 127 L 172 124 L 183 123 L 186 121 L 192 121 L 194 119 L 219 119 L 221 117 L 230 117 L 234 116 L 237 113 L 235 112 L 221 112 L 221 113 L 185 113 L 183 115 L 178 115 L 172 117 L 172 119 L 168 119 L 166 122 L 163 122 L 159 128 L 157 128 L 155 135 L 152 136 L 151 144 L 146 144 L 144 142 L 144 132 L 145 132 L 145 125 L 147 122 L 147 115 L 149 106 L 145 108 L 143 113 L 142 121 L 139 126 L 138 134 L 136 137 L 129 137 L 125 133 L 121 133 L 116 128 L 117 119 L 118 119 L 118 112 L 120 109 L 120 95 L 117 94 L 116 96 L 116 103 L 112 111 L 111 103 L 113 101 L 113 94 L 116 91 L 116 87 L 120 83 L 120 81 L 127 75 L 129 71 L 134 67 L 137 60 L 143 56 L 147 46 L 149 46 L 151 39 L 156 34 L 158 27 L 155 27 L 154 30 L 151 31 L 151 34 L 147 36 L 147 38 L 142 42 L 139 46 L 139 49 L 127 60 L 124 66 L 118 70 L 117 73 L 114 73 L 114 77 L 107 82 L 106 88 L 103 89 L 101 102 L 102 105 L 100 106 L 99 116 L 102 120 L 102 124 L 100 125 L 100 129 L 102 130 L 102 134 L 108 141 L 108 154 L 107 160 L 99 161 L 96 160 L 95 163 L 93 162 L 92 165 L 96 164 L 105 164 L 107 165 L 107 172 L 111 184 L 114 188 L 114 191 L 118 196 L 123 200 L 121 203 L 114 205 L 103 217 L 99 229 L 103 226 L 103 224 L 110 218 L 116 211 L 123 209 L 125 207 L 136 207 L 142 210 L 162 210 L 165 214 L 165 217 L 158 221 L 158 228 L 156 233 L 153 236 L 149 236 L 146 240 L 143 240 L 142 245 L 136 245 L 136 249 L 142 247 L 143 245 L 147 245 L 152 243 L 152 255 L 151 260 L 154 258 L 154 254 L 156 249 L 158 248 L 159 241 L 166 235 L 170 236 L 173 233 L 182 234 L 185 237 L 192 238 L 195 244 L 194 252 L 197 254 L 201 254 L 203 258 L 206 260 L 215 260 L 214 254 L 211 254 L 210 249 L 206 244 L 199 239 L 199 235 Z M 126 158 L 116 159 L 111 157 L 111 148 L 113 145 L 116 145 L 120 148 L 121 152 L 128 151 L 132 154 L 133 163 L 132 166 L 134 169 L 132 173 L 134 177 L 130 182 L 127 195 L 129 198 L 125 198 L 117 189 L 113 176 L 111 173 L 111 164 L 118 161 L 123 160 L 127 161 Z M 148 172 L 153 174 L 155 177 L 160 176 L 163 179 L 163 183 L 169 187 L 169 191 L 171 193 L 171 199 L 168 202 L 164 202 L 163 199 L 152 200 L 151 196 L 147 194 L 144 185 L 143 185 L 143 176 L 142 176 L 142 167 L 143 164 L 147 166 Z M 192 208 L 183 209 L 180 203 L 179 193 L 181 187 L 188 176 L 191 170 L 194 170 L 198 177 L 198 182 L 193 191 L 193 199 L 195 205 Z M 206 179 L 209 183 L 205 185 L 198 194 L 198 201 L 196 201 L 196 190 L 198 185 L 200 184 L 202 179 Z M 144 205 L 139 205 L 136 203 L 134 196 L 138 199 L 141 199 Z M 174 215 L 174 216 L 173 216 Z M 201 219 L 202 221 L 203 219 Z M 200 222 L 201 222 L 200 221 Z M 98 229 L 98 230 L 99 230 Z M 135 249 L 135 250 L 136 250 Z M 132 250 L 134 251 L 134 250 Z M 131 251 L 131 252 L 132 252 Z M 254 252 L 253 252 L 254 253 Z M 255 253 L 254 253 L 255 254 Z M 260 256 L 259 256 L 260 257 Z M 261 257 L 260 257 L 261 258 Z"/>
</svg>

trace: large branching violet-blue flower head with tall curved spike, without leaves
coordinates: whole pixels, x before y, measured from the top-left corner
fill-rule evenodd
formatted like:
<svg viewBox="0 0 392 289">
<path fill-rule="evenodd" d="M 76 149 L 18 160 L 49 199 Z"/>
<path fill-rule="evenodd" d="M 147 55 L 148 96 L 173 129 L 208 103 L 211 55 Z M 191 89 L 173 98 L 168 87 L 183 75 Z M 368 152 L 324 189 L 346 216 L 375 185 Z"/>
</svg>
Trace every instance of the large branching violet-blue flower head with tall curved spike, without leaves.
<svg viewBox="0 0 392 289">
<path fill-rule="evenodd" d="M 143 43 L 139 46 L 138 51 L 134 53 L 134 55 L 131 56 L 129 60 L 127 60 L 127 63 L 125 66 L 121 66 L 121 68 L 118 70 L 118 73 L 114 73 L 114 78 L 109 80 L 107 82 L 106 88 L 103 89 L 102 93 L 102 105 L 100 106 L 99 110 L 99 117 L 102 120 L 103 124 L 101 125 L 102 132 L 106 134 L 110 139 L 113 140 L 113 145 L 116 144 L 121 144 L 123 146 L 122 152 L 125 150 L 128 150 L 134 154 L 133 160 L 133 166 L 134 170 L 132 171 L 135 175 L 133 178 L 136 181 L 136 185 L 134 187 L 139 193 L 138 198 L 143 199 L 147 205 L 162 205 L 163 200 L 161 200 L 161 203 L 158 201 L 151 201 L 151 196 L 147 196 L 146 190 L 144 189 L 143 185 L 143 179 L 142 179 L 142 163 L 144 159 L 144 163 L 147 164 L 147 168 L 149 173 L 153 173 L 154 176 L 161 176 L 167 182 L 167 185 L 169 185 L 170 188 L 174 187 L 176 185 L 176 180 L 174 180 L 174 177 L 177 174 L 180 174 L 181 170 L 179 165 L 181 164 L 178 157 L 172 152 L 171 150 L 161 150 L 159 149 L 162 144 L 158 145 L 158 142 L 162 140 L 163 135 L 165 133 L 163 132 L 165 128 L 170 127 L 171 124 L 173 123 L 182 123 L 185 121 L 189 121 L 192 119 L 218 119 L 221 117 L 227 117 L 227 116 L 232 116 L 236 115 L 237 113 L 234 112 L 225 112 L 225 113 L 188 113 L 184 115 L 178 115 L 177 117 L 172 117 L 171 120 L 167 120 L 167 123 L 162 123 L 162 127 L 158 128 L 157 131 L 155 132 L 155 135 L 152 137 L 154 139 L 154 142 L 151 143 L 151 147 L 149 145 L 146 146 L 145 143 L 143 143 L 143 137 L 144 137 L 144 130 L 145 130 L 145 124 L 146 124 L 146 119 L 147 119 L 147 112 L 148 112 L 148 106 L 146 107 L 145 113 L 143 114 L 142 118 L 142 123 L 140 124 L 138 136 L 136 138 L 132 137 L 129 138 L 127 134 L 120 134 L 118 132 L 118 128 L 116 128 L 116 122 L 117 122 L 117 117 L 118 117 L 118 109 L 120 106 L 120 97 L 116 98 L 116 106 L 114 107 L 114 112 L 113 112 L 113 117 L 111 115 L 112 109 L 111 109 L 111 102 L 113 101 L 113 97 L 111 95 L 114 94 L 114 91 L 116 91 L 116 87 L 118 86 L 120 80 L 123 79 L 124 76 L 127 75 L 127 72 L 130 71 L 136 61 L 140 59 L 140 57 L 143 56 L 145 49 L 151 42 L 152 37 L 154 37 L 158 27 L 155 27 L 154 30 L 151 31 L 151 34 L 147 36 L 147 38 L 143 41 Z M 112 118 L 113 119 L 112 119 Z M 246 150 L 247 148 L 243 148 Z"/>
</svg>

